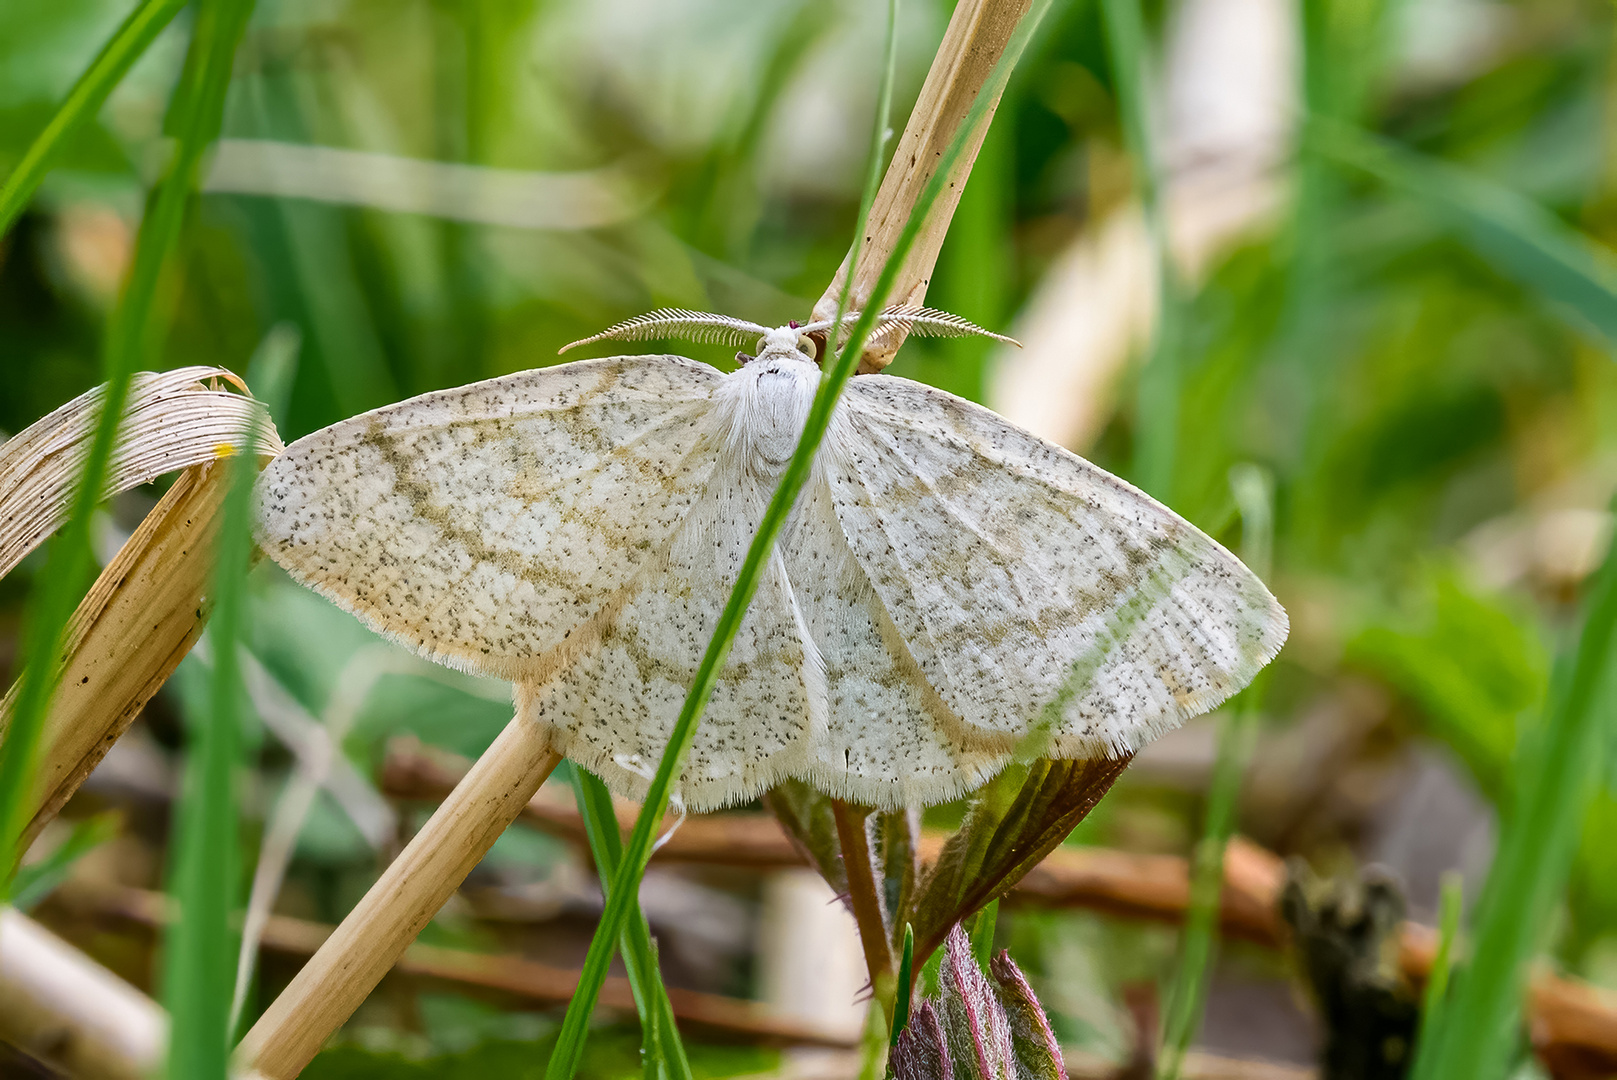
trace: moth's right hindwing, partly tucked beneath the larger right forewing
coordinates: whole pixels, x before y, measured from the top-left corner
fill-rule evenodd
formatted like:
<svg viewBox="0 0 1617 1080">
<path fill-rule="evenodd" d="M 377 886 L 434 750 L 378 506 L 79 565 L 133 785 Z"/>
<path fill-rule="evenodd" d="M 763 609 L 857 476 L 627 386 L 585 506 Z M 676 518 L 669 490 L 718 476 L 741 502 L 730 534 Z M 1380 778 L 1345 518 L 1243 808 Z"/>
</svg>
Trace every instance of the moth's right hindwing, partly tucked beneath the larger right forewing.
<svg viewBox="0 0 1617 1080">
<path fill-rule="evenodd" d="M 965 724 L 927 681 L 847 543 L 825 469 L 781 546 L 830 698 L 825 731 L 796 774 L 894 808 L 946 802 L 998 773 L 1009 760 L 1004 740 Z"/>
</svg>

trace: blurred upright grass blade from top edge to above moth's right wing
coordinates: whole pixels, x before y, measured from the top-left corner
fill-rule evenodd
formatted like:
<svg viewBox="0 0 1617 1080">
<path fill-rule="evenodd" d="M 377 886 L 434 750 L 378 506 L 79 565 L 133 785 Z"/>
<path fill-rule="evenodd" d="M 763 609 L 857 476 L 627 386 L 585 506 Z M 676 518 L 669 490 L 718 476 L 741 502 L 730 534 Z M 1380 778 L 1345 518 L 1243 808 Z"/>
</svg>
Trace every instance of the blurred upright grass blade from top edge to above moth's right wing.
<svg viewBox="0 0 1617 1080">
<path fill-rule="evenodd" d="M 1112 89 L 1124 142 L 1135 163 L 1135 189 L 1145 212 L 1151 255 L 1156 264 L 1158 306 L 1151 333 L 1151 354 L 1140 372 L 1135 401 L 1135 479 L 1159 500 L 1172 496 L 1174 458 L 1179 443 L 1179 338 L 1184 312 L 1180 289 L 1167 244 L 1167 215 L 1163 209 L 1161 168 L 1151 142 L 1146 82 L 1148 44 L 1140 0 L 1101 0 L 1106 24 L 1106 55 L 1112 68 Z"/>
</svg>

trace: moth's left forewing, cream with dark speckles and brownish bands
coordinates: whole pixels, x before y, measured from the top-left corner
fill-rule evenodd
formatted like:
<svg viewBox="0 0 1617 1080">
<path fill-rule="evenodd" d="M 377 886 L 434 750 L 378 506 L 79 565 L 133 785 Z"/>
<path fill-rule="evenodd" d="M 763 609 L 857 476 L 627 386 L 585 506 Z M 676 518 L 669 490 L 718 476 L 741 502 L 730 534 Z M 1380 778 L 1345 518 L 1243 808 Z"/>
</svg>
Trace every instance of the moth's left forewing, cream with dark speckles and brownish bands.
<svg viewBox="0 0 1617 1080">
<path fill-rule="evenodd" d="M 678 356 L 624 356 L 357 416 L 270 462 L 257 540 L 425 656 L 542 681 L 705 490 L 721 378 Z"/>
</svg>

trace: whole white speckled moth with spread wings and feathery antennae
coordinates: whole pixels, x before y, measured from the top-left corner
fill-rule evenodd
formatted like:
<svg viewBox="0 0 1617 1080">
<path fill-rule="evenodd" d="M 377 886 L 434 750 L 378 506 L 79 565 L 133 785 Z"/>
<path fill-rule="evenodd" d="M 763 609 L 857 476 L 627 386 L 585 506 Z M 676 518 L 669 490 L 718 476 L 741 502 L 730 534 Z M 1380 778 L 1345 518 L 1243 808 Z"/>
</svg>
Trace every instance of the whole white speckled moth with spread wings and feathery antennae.
<svg viewBox="0 0 1617 1080">
<path fill-rule="evenodd" d="M 901 330 L 988 333 L 881 312 L 876 340 Z M 259 543 L 382 634 L 511 679 L 558 750 L 640 794 L 797 445 L 817 331 L 652 312 L 585 341 L 757 356 L 579 361 L 343 420 L 265 469 Z M 679 794 L 705 810 L 796 776 L 891 808 L 957 797 L 1033 736 L 1048 757 L 1129 753 L 1286 632 L 1263 582 L 1142 491 L 969 401 L 859 375 Z"/>
</svg>

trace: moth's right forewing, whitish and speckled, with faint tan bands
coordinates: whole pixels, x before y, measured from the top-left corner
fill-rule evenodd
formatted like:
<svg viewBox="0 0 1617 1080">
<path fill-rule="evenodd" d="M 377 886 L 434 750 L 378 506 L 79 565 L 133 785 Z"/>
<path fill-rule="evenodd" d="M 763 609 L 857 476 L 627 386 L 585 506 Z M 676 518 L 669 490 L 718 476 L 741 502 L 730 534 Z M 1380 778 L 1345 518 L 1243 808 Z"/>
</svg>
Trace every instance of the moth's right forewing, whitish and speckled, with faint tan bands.
<svg viewBox="0 0 1617 1080">
<path fill-rule="evenodd" d="M 915 663 L 972 728 L 1058 757 L 1137 750 L 1286 640 L 1263 582 L 1082 458 L 902 378 L 849 383 L 828 440 L 844 532 Z"/>
</svg>

